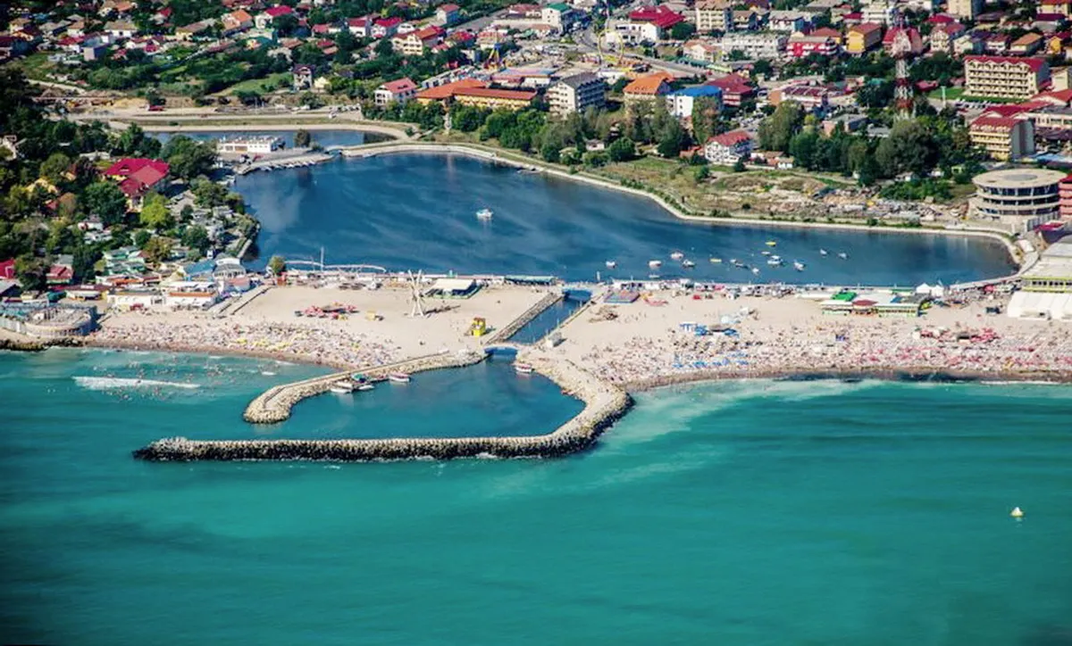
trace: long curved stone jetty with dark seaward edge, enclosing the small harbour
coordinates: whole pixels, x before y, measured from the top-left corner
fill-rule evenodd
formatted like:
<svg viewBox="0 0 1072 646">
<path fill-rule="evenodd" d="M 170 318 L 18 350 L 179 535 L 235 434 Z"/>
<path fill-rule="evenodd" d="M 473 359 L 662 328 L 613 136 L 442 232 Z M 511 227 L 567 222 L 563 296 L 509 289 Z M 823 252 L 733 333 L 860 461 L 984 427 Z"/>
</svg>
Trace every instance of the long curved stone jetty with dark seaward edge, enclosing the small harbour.
<svg viewBox="0 0 1072 646">
<path fill-rule="evenodd" d="M 591 447 L 632 405 L 624 391 L 567 361 L 530 359 L 533 366 L 585 403 L 584 409 L 554 432 L 531 437 L 452 437 L 391 439 L 161 439 L 134 451 L 153 462 L 236 460 L 323 460 L 368 462 L 456 457 L 557 457 Z"/>
</svg>

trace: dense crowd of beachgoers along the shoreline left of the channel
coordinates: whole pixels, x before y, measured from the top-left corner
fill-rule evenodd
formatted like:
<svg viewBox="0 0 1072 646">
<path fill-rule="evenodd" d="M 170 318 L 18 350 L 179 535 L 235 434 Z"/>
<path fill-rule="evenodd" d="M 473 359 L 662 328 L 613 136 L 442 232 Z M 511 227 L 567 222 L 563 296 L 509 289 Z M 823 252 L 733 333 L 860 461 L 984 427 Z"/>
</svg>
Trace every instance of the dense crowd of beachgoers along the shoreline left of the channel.
<svg viewBox="0 0 1072 646">
<path fill-rule="evenodd" d="M 397 346 L 344 329 L 212 319 L 184 321 L 181 326 L 161 322 L 147 319 L 104 326 L 90 343 L 147 350 L 241 354 L 346 369 L 400 358 Z"/>
</svg>

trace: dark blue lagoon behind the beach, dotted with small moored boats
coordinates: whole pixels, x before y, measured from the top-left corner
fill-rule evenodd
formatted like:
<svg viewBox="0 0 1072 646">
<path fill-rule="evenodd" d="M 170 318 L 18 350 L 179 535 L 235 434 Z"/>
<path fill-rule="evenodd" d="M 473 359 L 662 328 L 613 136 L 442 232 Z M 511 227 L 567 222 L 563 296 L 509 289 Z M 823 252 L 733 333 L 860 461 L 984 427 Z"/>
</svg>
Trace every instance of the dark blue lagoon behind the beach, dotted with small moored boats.
<svg viewBox="0 0 1072 646">
<path fill-rule="evenodd" d="M 390 270 L 592 280 L 646 279 L 649 260 L 659 259 L 665 276 L 852 285 L 951 284 L 1013 271 L 994 240 L 683 222 L 646 198 L 453 154 L 256 172 L 237 189 L 264 224 L 262 262 L 272 254 L 314 259 L 324 247 L 328 262 Z M 494 212 L 490 221 L 476 217 L 483 208 Z M 766 266 L 769 240 L 784 267 Z M 675 251 L 696 267 L 671 260 Z M 837 257 L 843 252 L 847 259 Z M 760 274 L 734 269 L 731 258 Z M 608 260 L 616 269 L 607 269 Z M 806 269 L 795 271 L 793 260 Z"/>
</svg>

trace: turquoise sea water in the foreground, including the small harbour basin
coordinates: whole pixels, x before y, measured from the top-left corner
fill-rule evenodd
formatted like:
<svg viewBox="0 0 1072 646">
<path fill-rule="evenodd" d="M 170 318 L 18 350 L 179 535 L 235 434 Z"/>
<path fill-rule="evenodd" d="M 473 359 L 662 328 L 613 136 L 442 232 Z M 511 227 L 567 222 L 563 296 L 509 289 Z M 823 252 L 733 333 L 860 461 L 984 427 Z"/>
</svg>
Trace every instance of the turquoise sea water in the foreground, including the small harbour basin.
<svg viewBox="0 0 1072 646">
<path fill-rule="evenodd" d="M 0 643 L 1072 637 L 1063 387 L 694 386 L 640 395 L 594 451 L 555 461 L 130 457 L 164 435 L 284 437 L 330 423 L 334 434 L 381 427 L 387 410 L 415 432 L 453 418 L 494 429 L 504 410 L 461 409 L 472 392 L 520 388 L 495 371 L 443 373 L 452 388 L 434 395 L 419 375 L 408 390 L 384 387 L 383 408 L 322 397 L 255 429 L 240 419 L 253 393 L 319 371 L 0 354 Z M 510 423 L 568 417 L 568 400 L 534 384 L 516 393 Z M 360 419 L 340 421 L 351 412 Z"/>
</svg>

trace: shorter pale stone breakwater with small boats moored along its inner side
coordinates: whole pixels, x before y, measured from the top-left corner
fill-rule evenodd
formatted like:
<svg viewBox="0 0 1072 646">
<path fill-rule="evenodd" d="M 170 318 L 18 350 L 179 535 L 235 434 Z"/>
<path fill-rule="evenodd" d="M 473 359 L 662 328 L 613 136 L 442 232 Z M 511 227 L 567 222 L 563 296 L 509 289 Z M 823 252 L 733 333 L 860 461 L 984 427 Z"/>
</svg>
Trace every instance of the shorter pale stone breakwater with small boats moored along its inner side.
<svg viewBox="0 0 1072 646">
<path fill-rule="evenodd" d="M 442 355 L 431 355 L 389 363 L 386 365 L 375 365 L 361 370 L 334 373 L 321 377 L 313 377 L 302 381 L 282 384 L 273 386 L 259 394 L 247 406 L 242 418 L 254 424 L 273 424 L 282 422 L 291 417 L 291 409 L 295 404 L 306 397 L 323 394 L 331 388 L 331 384 L 340 379 L 349 377 L 354 373 L 361 373 L 372 381 L 383 381 L 390 373 L 419 373 L 428 370 L 441 367 L 462 367 L 483 361 L 485 355 L 481 352 L 466 352 L 463 355 L 450 352 Z"/>
</svg>

